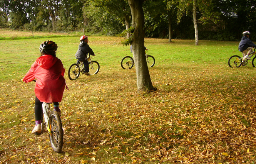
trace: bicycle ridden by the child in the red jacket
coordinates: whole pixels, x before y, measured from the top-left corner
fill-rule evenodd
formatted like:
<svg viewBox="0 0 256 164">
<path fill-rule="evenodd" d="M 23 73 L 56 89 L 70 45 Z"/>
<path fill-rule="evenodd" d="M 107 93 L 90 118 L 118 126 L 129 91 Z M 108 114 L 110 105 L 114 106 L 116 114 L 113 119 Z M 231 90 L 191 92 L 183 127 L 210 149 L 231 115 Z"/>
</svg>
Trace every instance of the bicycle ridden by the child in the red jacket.
<svg viewBox="0 0 256 164">
<path fill-rule="evenodd" d="M 33 80 L 35 81 L 35 80 Z M 55 110 L 50 110 L 50 104 L 51 103 L 46 103 L 44 102 L 42 104 L 42 118 L 41 122 L 42 125 L 44 124 L 50 137 L 50 143 L 52 145 L 52 149 L 60 153 L 62 150 L 63 146 L 63 129 L 62 129 L 62 122 L 60 120 L 60 116 Z M 43 123 L 43 116 L 44 116 L 44 123 Z M 41 126 L 42 126 L 41 125 Z M 42 131 L 40 132 L 35 132 L 35 135 L 40 135 L 43 133 L 43 126 L 42 126 Z"/>
</svg>

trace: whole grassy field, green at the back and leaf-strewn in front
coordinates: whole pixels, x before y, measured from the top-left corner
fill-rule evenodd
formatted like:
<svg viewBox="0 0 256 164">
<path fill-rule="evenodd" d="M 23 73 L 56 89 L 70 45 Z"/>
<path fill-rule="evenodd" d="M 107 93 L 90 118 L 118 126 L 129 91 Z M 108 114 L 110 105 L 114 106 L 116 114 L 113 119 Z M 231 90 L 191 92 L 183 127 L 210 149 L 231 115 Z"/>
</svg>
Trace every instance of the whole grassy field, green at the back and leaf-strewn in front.
<svg viewBox="0 0 256 164">
<path fill-rule="evenodd" d="M 4 30 L 0 31 L 5 33 Z M 15 31 L 3 37 L 11 37 Z M 156 64 L 149 68 L 156 92 L 136 92 L 135 67 L 122 38 L 89 36 L 97 75 L 67 77 L 80 34 L 44 34 L 0 40 L 0 164 L 5 163 L 254 163 L 256 153 L 256 69 L 233 69 L 228 59 L 238 42 L 145 38 Z M 35 34 L 36 35 L 36 34 Z M 40 35 L 40 34 L 38 34 Z M 62 35 L 62 36 L 60 36 Z M 34 136 L 34 83 L 21 81 L 44 40 L 58 44 L 69 90 L 60 108 L 63 151 L 52 151 L 49 136 Z"/>
</svg>

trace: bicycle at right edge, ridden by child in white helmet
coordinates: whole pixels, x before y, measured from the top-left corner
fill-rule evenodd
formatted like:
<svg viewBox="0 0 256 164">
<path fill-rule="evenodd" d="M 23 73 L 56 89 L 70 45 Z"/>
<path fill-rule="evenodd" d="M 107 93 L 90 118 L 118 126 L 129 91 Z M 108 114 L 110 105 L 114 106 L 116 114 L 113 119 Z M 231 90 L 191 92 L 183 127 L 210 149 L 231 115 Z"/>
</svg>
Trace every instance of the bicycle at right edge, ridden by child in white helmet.
<svg viewBox="0 0 256 164">
<path fill-rule="evenodd" d="M 256 48 L 254 48 L 254 51 L 249 54 L 249 57 L 252 57 L 255 54 L 255 49 Z M 242 53 L 242 56 L 243 56 L 243 53 Z M 234 56 L 231 56 L 228 60 L 228 65 L 231 68 L 233 67 L 238 68 L 240 66 L 246 66 L 247 64 L 248 64 L 248 59 L 244 58 L 244 56 L 240 57 L 238 55 L 234 55 Z M 256 66 L 256 56 L 253 57 L 251 64 L 253 65 L 253 67 Z"/>
</svg>

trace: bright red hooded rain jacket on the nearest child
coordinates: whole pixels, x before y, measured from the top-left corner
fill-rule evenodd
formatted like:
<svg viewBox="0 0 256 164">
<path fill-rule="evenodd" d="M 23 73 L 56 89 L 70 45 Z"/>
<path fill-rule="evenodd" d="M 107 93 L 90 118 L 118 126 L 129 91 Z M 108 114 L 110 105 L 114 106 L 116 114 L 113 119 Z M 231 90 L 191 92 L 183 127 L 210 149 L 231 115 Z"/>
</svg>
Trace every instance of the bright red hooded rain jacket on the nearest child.
<svg viewBox="0 0 256 164">
<path fill-rule="evenodd" d="M 65 69 L 62 62 L 52 55 L 43 55 L 32 64 L 24 82 L 35 82 L 35 95 L 40 102 L 61 102 L 65 89 Z"/>
</svg>

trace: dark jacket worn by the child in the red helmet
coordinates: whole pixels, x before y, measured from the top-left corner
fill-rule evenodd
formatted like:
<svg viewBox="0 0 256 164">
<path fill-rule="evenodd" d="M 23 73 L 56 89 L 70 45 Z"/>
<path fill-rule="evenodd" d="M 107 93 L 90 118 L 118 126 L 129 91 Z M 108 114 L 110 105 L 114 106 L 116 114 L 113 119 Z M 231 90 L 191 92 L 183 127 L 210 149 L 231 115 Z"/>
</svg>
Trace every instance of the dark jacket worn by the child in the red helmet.
<svg viewBox="0 0 256 164">
<path fill-rule="evenodd" d="M 75 57 L 77 59 L 79 59 L 79 61 L 85 61 L 85 59 L 87 58 L 88 53 L 90 55 L 94 55 L 94 52 L 92 51 L 90 46 L 85 41 L 81 41 L 79 46 L 78 46 L 78 50 L 75 53 Z"/>
</svg>

